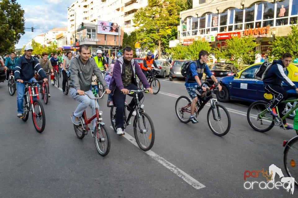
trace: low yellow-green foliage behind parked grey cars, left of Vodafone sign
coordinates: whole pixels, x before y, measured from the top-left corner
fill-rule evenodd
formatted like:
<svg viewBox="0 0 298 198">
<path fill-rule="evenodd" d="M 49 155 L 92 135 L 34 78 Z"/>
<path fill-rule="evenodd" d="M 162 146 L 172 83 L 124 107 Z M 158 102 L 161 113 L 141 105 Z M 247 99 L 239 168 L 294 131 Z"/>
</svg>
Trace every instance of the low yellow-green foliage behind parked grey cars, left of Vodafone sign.
<svg viewBox="0 0 298 198">
<path fill-rule="evenodd" d="M 183 46 L 181 44 L 176 47 L 172 47 L 168 50 L 168 53 L 172 56 L 172 59 L 187 59 L 187 60 L 196 60 L 199 57 L 199 52 L 201 50 L 206 50 L 210 52 L 211 47 L 208 42 L 197 40 L 194 41 L 191 45 Z"/>
</svg>

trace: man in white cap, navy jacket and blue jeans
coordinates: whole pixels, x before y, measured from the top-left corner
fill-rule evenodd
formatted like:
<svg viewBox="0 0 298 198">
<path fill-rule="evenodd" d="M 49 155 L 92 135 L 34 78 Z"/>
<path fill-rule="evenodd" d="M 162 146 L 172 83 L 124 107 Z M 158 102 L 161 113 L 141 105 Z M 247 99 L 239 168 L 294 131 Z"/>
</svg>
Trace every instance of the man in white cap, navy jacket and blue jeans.
<svg viewBox="0 0 298 198">
<path fill-rule="evenodd" d="M 47 74 L 44 72 L 43 68 L 38 62 L 37 58 L 32 56 L 33 48 L 30 45 L 25 47 L 25 55 L 21 56 L 16 62 L 15 67 L 15 79 L 16 90 L 18 91 L 17 104 L 18 104 L 18 114 L 19 118 L 23 117 L 23 101 L 25 93 L 24 80 L 29 82 L 36 82 L 34 78 L 35 72 L 38 72 L 42 76 L 43 81 L 47 82 Z"/>
</svg>

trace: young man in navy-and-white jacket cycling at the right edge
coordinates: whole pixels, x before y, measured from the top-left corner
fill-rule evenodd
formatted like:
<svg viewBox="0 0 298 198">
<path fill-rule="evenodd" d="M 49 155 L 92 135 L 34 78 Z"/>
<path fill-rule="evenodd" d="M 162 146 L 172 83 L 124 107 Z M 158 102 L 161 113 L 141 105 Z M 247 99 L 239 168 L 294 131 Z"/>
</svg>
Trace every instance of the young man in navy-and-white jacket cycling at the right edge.
<svg viewBox="0 0 298 198">
<path fill-rule="evenodd" d="M 290 53 L 284 53 L 281 60 L 274 60 L 271 67 L 268 69 L 264 79 L 264 90 L 267 93 L 271 93 L 275 96 L 271 105 L 268 107 L 268 111 L 274 116 L 278 116 L 275 107 L 278 105 L 280 117 L 286 114 L 286 104 L 280 103 L 287 98 L 287 91 L 282 88 L 282 82 L 286 83 L 289 87 L 298 92 L 298 88 L 285 74 L 286 68 L 292 61 L 292 55 Z M 293 129 L 292 126 L 287 124 L 286 119 L 283 120 L 284 127 L 286 129 Z M 283 126 L 280 126 L 283 128 Z"/>
</svg>

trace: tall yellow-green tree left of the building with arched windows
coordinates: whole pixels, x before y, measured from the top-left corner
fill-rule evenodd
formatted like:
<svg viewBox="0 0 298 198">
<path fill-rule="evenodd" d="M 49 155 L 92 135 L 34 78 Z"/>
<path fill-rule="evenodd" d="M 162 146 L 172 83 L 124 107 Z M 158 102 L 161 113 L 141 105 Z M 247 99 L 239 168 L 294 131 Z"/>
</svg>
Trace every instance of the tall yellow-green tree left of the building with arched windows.
<svg viewBox="0 0 298 198">
<path fill-rule="evenodd" d="M 180 11 L 187 10 L 187 0 L 151 0 L 148 6 L 134 14 L 133 23 L 138 40 L 143 48 L 169 47 L 169 40 L 177 35 Z"/>
</svg>

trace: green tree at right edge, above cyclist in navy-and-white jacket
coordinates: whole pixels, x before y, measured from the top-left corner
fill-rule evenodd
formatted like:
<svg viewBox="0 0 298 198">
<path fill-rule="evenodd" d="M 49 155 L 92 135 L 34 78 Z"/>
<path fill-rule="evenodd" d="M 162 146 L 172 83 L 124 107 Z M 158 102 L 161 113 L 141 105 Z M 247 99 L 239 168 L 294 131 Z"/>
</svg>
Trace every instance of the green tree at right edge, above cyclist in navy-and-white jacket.
<svg viewBox="0 0 298 198">
<path fill-rule="evenodd" d="M 274 41 L 269 42 L 271 45 L 271 59 L 280 59 L 282 54 L 289 52 L 294 58 L 298 57 L 298 25 L 291 25 L 291 32 L 287 37 L 277 36 Z"/>
</svg>

